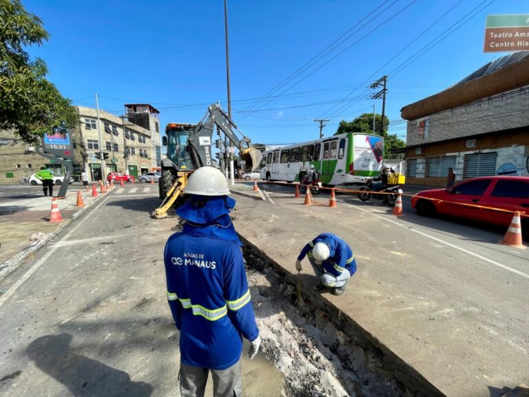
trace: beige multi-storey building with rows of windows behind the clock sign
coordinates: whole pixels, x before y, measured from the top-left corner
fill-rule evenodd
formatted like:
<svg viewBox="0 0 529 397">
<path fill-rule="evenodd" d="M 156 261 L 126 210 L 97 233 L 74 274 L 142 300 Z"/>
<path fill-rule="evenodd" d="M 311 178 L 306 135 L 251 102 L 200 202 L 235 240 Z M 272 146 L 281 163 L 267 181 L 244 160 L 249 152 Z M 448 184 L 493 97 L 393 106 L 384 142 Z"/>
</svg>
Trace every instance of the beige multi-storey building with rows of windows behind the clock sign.
<svg viewBox="0 0 529 397">
<path fill-rule="evenodd" d="M 134 105 L 126 105 L 123 116 L 115 116 L 104 110 L 97 112 L 96 109 L 83 106 L 75 107 L 80 123 L 78 128 L 71 131 L 74 179 L 79 180 L 83 170 L 90 175 L 90 181 L 98 181 L 109 172 L 123 172 L 137 178 L 138 175 L 156 170 L 160 165 L 156 110 L 151 107 L 154 110 L 152 113 L 138 117 L 128 111 L 128 106 Z M 107 159 L 98 159 L 100 152 Z M 60 163 L 39 156 L 34 146 L 28 145 L 12 132 L 0 131 L 0 183 L 17 183 L 23 176 L 37 172 L 41 166 L 56 175 L 65 174 Z"/>
</svg>

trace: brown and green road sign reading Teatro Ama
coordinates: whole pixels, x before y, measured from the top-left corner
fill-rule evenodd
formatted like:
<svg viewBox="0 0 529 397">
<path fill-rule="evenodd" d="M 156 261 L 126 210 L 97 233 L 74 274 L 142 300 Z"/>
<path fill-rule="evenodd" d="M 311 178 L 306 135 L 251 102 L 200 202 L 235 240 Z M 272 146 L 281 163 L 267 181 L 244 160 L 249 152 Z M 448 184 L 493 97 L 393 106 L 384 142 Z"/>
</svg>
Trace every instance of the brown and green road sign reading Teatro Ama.
<svg viewBox="0 0 529 397">
<path fill-rule="evenodd" d="M 529 14 L 488 15 L 484 52 L 529 50 Z"/>
</svg>

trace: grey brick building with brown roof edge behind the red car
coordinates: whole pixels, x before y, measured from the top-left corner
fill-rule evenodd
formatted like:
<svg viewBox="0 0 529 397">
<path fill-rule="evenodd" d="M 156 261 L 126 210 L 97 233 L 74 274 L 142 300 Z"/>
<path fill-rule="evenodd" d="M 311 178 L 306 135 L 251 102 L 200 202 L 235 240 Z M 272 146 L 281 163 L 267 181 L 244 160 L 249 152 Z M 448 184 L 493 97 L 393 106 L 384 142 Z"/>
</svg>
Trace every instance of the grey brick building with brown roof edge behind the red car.
<svg viewBox="0 0 529 397">
<path fill-rule="evenodd" d="M 509 57 L 503 57 L 499 68 L 490 72 L 477 71 L 453 88 L 429 97 L 429 102 L 419 101 L 411 108 L 403 108 L 403 118 L 408 119 L 406 183 L 444 187 L 450 167 L 455 172 L 456 182 L 476 176 L 529 176 L 528 81 L 515 89 L 499 88 L 494 94 L 490 94 L 493 90 L 486 90 L 489 81 L 501 83 L 504 77 L 498 72 L 508 71 L 502 69 L 509 65 L 519 68 L 520 59 L 526 63 L 523 70 L 529 68 L 529 57 L 517 54 L 514 63 L 508 62 Z M 495 79 L 486 80 L 486 77 Z M 469 83 L 481 85 L 489 94 L 450 107 L 450 101 L 456 103 L 460 98 L 458 90 L 464 92 Z M 428 107 L 438 109 L 424 110 Z M 408 117 L 408 114 L 420 112 L 426 114 Z"/>
</svg>

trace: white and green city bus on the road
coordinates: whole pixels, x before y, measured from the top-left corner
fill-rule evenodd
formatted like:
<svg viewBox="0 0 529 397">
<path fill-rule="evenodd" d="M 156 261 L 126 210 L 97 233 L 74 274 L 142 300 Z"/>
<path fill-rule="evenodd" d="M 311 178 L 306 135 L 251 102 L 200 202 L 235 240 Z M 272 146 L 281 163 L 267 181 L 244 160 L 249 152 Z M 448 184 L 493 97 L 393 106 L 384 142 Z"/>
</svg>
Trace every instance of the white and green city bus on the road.
<svg viewBox="0 0 529 397">
<path fill-rule="evenodd" d="M 314 165 L 324 185 L 353 185 L 378 176 L 383 160 L 382 136 L 349 132 L 266 150 L 260 176 L 267 181 L 302 181 Z"/>
</svg>

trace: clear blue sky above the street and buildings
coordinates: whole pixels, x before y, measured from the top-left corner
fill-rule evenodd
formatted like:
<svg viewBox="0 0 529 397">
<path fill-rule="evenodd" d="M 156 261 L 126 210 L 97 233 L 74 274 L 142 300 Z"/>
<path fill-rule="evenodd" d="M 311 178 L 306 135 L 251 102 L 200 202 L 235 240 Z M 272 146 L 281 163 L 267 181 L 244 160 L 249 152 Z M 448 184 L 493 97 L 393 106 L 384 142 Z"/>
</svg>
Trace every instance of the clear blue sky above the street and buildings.
<svg viewBox="0 0 529 397">
<path fill-rule="evenodd" d="M 50 33 L 30 53 L 44 59 L 48 79 L 74 105 L 95 108 L 96 93 L 100 108 L 116 115 L 125 103 L 150 103 L 162 127 L 197 123 L 217 101 L 227 110 L 222 0 L 23 4 Z M 331 119 L 329 136 L 373 104 L 380 113 L 382 100 L 370 99 L 376 90 L 367 87 L 384 74 L 389 132 L 405 139 L 402 107 L 506 54 L 483 52 L 486 16 L 529 12 L 526 0 L 228 0 L 227 6 L 233 119 L 252 142 L 270 145 L 318 138 L 314 119 Z M 263 99 L 271 90 L 273 97 Z"/>
</svg>

